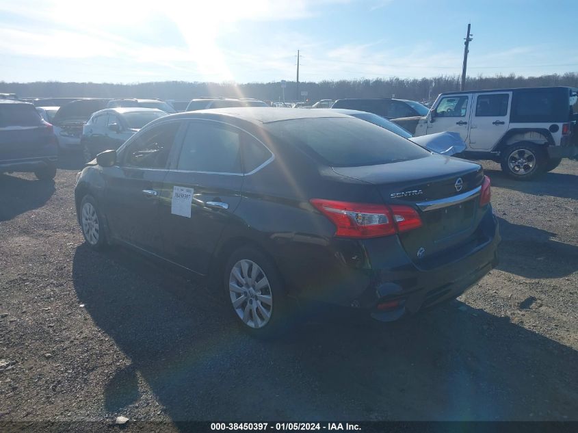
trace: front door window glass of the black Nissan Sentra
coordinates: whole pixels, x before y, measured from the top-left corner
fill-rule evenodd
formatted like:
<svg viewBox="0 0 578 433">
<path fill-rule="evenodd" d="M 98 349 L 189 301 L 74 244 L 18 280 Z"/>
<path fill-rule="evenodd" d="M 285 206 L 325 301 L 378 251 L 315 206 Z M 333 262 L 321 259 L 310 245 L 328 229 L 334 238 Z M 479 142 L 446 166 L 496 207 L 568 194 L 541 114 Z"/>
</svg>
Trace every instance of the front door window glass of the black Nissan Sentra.
<svg viewBox="0 0 578 433">
<path fill-rule="evenodd" d="M 124 166 L 138 168 L 166 168 L 168 155 L 181 122 L 156 125 L 135 137 L 124 151 Z"/>
</svg>

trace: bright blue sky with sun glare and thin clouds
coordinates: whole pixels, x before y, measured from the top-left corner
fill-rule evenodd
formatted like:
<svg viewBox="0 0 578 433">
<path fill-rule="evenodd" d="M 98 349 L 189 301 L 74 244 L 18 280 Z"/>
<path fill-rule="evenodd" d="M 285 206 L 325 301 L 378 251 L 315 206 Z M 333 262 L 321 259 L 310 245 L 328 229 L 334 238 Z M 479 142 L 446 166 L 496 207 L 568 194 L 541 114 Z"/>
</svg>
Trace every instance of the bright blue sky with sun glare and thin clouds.
<svg viewBox="0 0 578 433">
<path fill-rule="evenodd" d="M 300 81 L 578 71 L 578 1 L 0 0 L 0 81 Z"/>
</svg>

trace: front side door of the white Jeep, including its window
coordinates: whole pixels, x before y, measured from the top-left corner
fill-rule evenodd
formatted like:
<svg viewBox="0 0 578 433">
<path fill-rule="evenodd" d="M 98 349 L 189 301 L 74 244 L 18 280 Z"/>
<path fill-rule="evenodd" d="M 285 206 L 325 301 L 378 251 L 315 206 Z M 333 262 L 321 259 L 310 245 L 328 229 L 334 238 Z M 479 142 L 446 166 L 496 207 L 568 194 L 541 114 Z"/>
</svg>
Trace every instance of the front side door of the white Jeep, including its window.
<svg viewBox="0 0 578 433">
<path fill-rule="evenodd" d="M 471 99 L 471 94 L 462 93 L 442 96 L 428 115 L 428 134 L 457 132 L 467 142 Z"/>
</svg>

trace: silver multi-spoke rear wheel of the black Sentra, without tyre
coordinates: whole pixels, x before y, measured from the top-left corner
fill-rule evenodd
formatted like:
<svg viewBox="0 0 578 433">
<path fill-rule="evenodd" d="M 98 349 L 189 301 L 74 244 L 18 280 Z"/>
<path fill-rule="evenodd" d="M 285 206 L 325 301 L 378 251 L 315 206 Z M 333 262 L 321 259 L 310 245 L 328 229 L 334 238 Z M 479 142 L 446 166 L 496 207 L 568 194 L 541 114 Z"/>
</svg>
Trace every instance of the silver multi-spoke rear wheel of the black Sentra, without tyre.
<svg viewBox="0 0 578 433">
<path fill-rule="evenodd" d="M 233 309 L 250 328 L 263 328 L 271 319 L 273 294 L 265 272 L 248 259 L 237 261 L 229 276 Z"/>
</svg>

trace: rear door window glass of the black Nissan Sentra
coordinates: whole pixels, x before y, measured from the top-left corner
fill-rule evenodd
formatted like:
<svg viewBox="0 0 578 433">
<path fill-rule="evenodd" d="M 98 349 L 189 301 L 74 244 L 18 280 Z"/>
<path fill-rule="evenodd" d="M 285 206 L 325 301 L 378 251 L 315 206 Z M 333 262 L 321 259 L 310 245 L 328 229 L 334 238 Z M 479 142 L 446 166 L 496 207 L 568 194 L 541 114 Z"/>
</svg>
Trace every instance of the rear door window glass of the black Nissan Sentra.
<svg viewBox="0 0 578 433">
<path fill-rule="evenodd" d="M 190 122 L 178 170 L 241 173 L 241 131 L 217 122 Z"/>
</svg>

